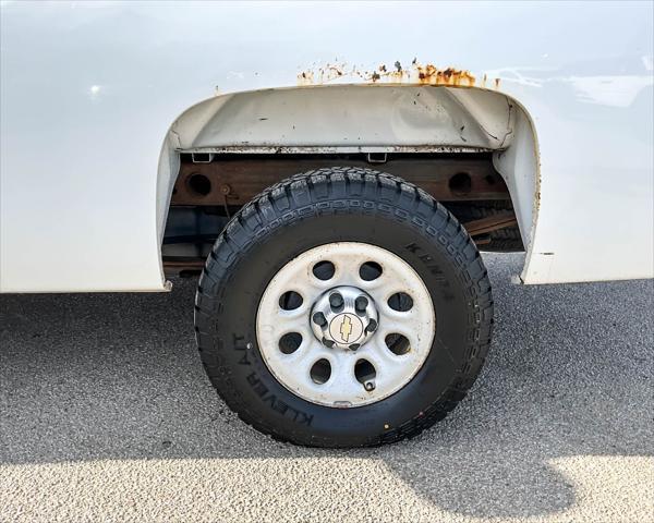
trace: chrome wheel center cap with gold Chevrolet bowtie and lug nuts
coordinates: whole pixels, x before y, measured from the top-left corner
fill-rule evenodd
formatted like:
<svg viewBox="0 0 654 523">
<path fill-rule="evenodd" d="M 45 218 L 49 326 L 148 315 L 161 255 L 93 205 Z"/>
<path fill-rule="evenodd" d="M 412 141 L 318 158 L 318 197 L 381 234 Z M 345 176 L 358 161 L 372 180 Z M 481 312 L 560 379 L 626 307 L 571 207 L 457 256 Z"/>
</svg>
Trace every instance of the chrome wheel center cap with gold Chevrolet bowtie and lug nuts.
<svg viewBox="0 0 654 523">
<path fill-rule="evenodd" d="M 326 346 L 358 350 L 377 330 L 378 314 L 371 295 L 356 287 L 335 287 L 311 311 L 311 327 Z"/>
</svg>

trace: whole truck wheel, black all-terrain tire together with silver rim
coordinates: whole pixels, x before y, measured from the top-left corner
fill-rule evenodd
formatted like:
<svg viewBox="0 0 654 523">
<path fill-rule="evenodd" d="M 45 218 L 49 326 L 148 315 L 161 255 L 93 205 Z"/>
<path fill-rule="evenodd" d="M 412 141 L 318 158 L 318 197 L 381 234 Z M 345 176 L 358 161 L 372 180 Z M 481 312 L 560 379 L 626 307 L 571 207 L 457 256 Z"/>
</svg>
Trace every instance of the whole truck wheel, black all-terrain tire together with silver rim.
<svg viewBox="0 0 654 523">
<path fill-rule="evenodd" d="M 331 168 L 281 182 L 218 238 L 195 325 L 239 416 L 319 447 L 412 437 L 463 399 L 493 300 L 455 217 L 402 180 Z"/>
</svg>

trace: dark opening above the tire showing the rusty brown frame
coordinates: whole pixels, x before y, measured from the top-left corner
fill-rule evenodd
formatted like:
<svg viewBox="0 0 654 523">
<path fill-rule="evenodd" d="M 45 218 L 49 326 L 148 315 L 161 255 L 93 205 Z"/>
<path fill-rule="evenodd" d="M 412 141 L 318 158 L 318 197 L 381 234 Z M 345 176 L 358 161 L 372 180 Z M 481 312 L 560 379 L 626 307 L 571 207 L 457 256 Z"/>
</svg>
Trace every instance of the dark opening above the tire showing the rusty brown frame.
<svg viewBox="0 0 654 523">
<path fill-rule="evenodd" d="M 378 163 L 366 154 L 215 155 L 210 162 L 180 156 L 162 242 L 168 276 L 199 272 L 228 221 L 265 188 L 293 174 L 325 167 L 367 167 L 414 183 L 469 229 L 479 247 L 524 248 L 508 187 L 491 153 L 388 154 Z"/>
</svg>

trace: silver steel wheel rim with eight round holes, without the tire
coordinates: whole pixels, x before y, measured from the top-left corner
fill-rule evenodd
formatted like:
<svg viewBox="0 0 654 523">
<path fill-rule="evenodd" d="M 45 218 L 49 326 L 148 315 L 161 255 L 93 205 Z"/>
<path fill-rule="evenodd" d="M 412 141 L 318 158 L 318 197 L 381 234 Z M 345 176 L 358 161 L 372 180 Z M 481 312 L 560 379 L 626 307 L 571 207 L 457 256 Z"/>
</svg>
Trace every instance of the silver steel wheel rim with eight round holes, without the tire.
<svg viewBox="0 0 654 523">
<path fill-rule="evenodd" d="M 277 272 L 256 329 L 281 385 L 313 403 L 353 408 L 411 381 L 429 354 L 435 314 L 427 288 L 403 259 L 340 242 L 312 248 Z"/>
</svg>

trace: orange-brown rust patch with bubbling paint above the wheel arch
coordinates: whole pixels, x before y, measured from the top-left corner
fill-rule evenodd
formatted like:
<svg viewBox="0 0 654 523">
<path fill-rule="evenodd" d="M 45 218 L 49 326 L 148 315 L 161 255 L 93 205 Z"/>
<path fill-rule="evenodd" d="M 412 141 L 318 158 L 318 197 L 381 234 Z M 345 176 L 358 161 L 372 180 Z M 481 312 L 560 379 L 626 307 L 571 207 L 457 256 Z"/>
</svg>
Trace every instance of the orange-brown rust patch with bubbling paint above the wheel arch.
<svg viewBox="0 0 654 523">
<path fill-rule="evenodd" d="M 358 65 L 347 63 L 315 66 L 298 74 L 299 85 L 323 85 L 344 80 L 361 81 L 364 83 L 388 83 L 388 84 L 417 84 L 417 85 L 449 85 L 472 87 L 476 78 L 470 71 L 456 68 L 438 68 L 432 63 L 421 64 L 416 59 L 403 66 L 398 60 L 392 66 L 385 63 L 366 70 Z M 484 75 L 480 85 L 486 86 L 488 78 Z M 494 80 L 495 88 L 499 86 L 499 78 Z"/>
</svg>

